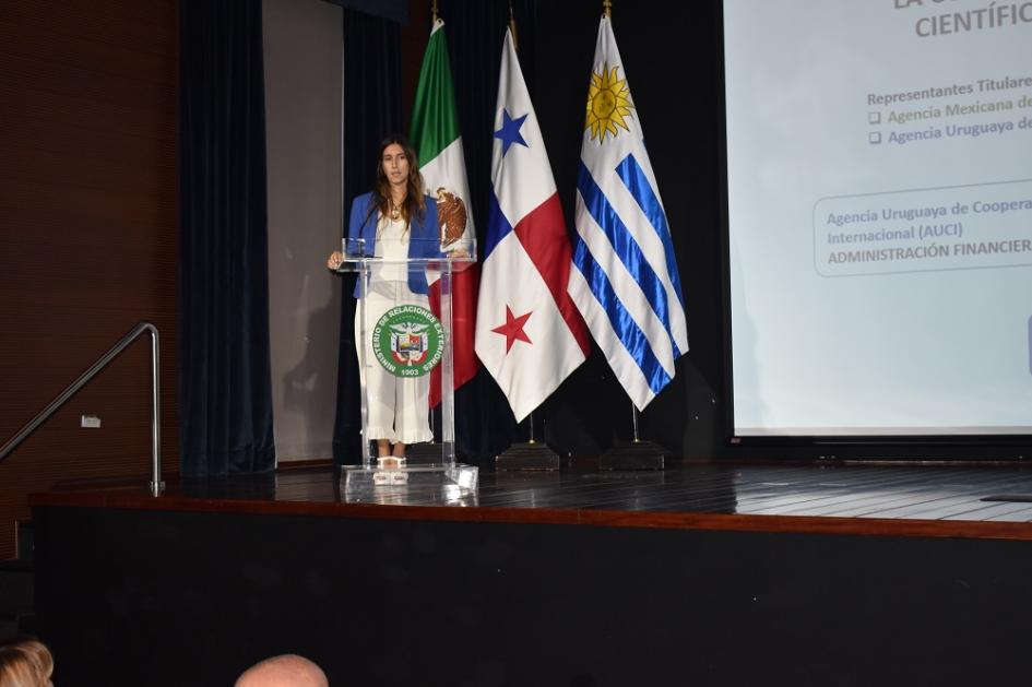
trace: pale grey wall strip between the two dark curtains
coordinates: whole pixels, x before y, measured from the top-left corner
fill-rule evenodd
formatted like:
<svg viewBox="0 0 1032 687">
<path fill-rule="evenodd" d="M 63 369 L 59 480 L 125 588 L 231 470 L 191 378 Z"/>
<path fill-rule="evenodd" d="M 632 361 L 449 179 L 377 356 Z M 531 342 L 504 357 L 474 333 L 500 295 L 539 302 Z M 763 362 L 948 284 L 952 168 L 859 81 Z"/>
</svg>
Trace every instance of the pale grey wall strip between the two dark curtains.
<svg viewBox="0 0 1032 687">
<path fill-rule="evenodd" d="M 341 280 L 341 8 L 263 0 L 276 454 L 332 455 Z"/>
</svg>

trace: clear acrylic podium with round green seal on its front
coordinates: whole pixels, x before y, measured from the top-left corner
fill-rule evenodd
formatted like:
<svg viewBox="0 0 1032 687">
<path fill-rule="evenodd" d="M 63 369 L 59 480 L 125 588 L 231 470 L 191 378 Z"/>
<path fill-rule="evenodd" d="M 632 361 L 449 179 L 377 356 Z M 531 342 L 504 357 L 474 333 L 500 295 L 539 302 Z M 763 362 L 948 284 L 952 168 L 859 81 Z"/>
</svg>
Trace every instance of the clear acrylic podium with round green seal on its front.
<svg viewBox="0 0 1032 687">
<path fill-rule="evenodd" d="M 361 465 L 341 474 L 348 501 L 382 502 L 384 491 L 442 489 L 468 494 L 477 469 L 455 462 L 452 276 L 476 261 L 475 247 L 442 252 L 436 239 L 343 239 L 340 272 L 357 273 L 355 345 L 360 370 Z M 439 317 L 429 297 L 440 293 Z M 352 297 L 353 294 L 344 294 Z M 344 322 L 342 327 L 352 323 Z M 431 374 L 437 368 L 439 374 Z M 440 399 L 440 462 L 410 465 L 378 459 L 371 443 L 434 441 L 428 396 Z M 391 437 L 393 435 L 393 437 Z"/>
</svg>

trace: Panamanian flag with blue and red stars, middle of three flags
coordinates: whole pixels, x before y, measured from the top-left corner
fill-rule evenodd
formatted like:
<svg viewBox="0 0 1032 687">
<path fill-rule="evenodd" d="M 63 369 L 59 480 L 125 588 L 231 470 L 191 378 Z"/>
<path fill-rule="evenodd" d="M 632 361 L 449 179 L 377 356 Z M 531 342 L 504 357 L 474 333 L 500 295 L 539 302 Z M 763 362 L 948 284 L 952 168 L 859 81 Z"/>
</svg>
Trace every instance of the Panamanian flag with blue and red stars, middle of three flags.
<svg viewBox="0 0 1032 687">
<path fill-rule="evenodd" d="M 506 32 L 476 354 L 521 422 L 591 351 L 567 293 L 570 240 L 520 62 Z"/>
</svg>

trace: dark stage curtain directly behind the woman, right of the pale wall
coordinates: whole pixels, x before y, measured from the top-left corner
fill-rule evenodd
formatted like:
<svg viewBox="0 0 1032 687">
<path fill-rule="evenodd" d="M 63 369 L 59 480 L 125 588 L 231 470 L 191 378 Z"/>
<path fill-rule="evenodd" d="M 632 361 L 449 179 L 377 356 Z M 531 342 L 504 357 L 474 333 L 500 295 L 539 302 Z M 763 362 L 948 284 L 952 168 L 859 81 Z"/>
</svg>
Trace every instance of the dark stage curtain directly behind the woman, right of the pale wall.
<svg viewBox="0 0 1032 687">
<path fill-rule="evenodd" d="M 344 10 L 344 212 L 376 182 L 380 141 L 402 131 L 401 26 L 396 22 Z M 355 348 L 355 277 L 343 277 L 341 346 L 337 360 L 333 464 L 361 462 L 361 417 Z"/>
</svg>

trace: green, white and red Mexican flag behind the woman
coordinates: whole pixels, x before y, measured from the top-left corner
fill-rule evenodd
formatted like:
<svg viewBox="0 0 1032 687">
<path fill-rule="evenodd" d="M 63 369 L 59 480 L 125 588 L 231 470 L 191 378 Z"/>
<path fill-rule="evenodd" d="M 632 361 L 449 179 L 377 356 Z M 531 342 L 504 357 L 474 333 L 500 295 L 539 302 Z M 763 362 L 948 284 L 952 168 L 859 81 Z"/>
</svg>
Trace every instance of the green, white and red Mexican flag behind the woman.
<svg viewBox="0 0 1032 687">
<path fill-rule="evenodd" d="M 416 100 L 412 111 L 412 143 L 419 156 L 419 170 L 426 192 L 438 199 L 442 215 L 442 230 L 453 248 L 473 246 L 473 215 L 470 211 L 470 183 L 459 134 L 455 91 L 444 42 L 444 22 L 437 20 L 430 31 L 430 40 L 423 57 Z M 463 224 L 464 223 L 464 224 Z M 476 354 L 473 337 L 476 331 L 476 291 L 478 269 L 453 274 L 452 280 L 452 342 L 454 355 L 454 388 L 470 381 L 476 374 Z M 440 316 L 440 282 L 430 285 L 430 306 Z M 431 372 L 430 406 L 440 403 L 440 368 Z"/>
</svg>

